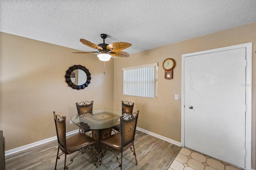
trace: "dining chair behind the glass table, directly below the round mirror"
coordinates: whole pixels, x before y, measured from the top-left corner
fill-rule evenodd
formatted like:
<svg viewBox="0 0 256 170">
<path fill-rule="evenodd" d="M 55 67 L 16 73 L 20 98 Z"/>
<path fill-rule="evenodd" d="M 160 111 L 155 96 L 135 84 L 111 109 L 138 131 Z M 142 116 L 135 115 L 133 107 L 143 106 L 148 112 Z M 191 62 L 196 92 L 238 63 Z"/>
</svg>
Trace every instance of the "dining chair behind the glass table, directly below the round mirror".
<svg viewBox="0 0 256 170">
<path fill-rule="evenodd" d="M 93 101 L 91 102 L 80 102 L 80 103 L 76 103 L 76 109 L 77 109 L 77 112 L 78 112 L 78 115 L 81 115 L 81 114 L 84 114 L 84 116 L 88 116 L 90 114 L 92 114 L 92 107 L 93 107 Z M 79 132 L 82 132 L 82 133 L 86 133 L 88 131 L 91 131 L 89 130 L 89 126 L 87 123 L 83 123 L 81 124 L 80 126 L 80 129 L 79 129 Z"/>
</svg>

